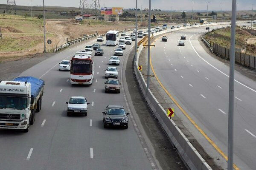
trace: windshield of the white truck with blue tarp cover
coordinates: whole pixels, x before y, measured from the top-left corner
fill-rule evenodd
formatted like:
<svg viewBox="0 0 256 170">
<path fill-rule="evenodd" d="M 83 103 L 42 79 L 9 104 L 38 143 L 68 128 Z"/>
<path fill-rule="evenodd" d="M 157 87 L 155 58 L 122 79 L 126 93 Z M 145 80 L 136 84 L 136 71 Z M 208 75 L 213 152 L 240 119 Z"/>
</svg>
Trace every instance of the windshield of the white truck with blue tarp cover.
<svg viewBox="0 0 256 170">
<path fill-rule="evenodd" d="M 27 107 L 27 98 L 0 96 L 0 108 L 25 109 Z"/>
</svg>

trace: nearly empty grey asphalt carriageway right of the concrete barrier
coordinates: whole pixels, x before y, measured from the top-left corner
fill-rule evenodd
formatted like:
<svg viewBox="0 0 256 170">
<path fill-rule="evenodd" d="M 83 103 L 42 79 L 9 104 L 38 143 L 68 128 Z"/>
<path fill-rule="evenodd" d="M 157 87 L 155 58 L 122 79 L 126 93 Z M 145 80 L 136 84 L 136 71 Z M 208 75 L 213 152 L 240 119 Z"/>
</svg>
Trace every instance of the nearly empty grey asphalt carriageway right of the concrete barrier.
<svg viewBox="0 0 256 170">
<path fill-rule="evenodd" d="M 167 34 L 168 42 L 157 39 L 151 60 L 165 88 L 227 155 L 229 66 L 200 44 L 198 38 L 205 31 L 205 27 L 185 29 Z M 185 46 L 177 46 L 181 35 L 186 36 Z M 241 170 L 254 170 L 256 82 L 237 71 L 235 79 L 234 163 Z"/>
</svg>

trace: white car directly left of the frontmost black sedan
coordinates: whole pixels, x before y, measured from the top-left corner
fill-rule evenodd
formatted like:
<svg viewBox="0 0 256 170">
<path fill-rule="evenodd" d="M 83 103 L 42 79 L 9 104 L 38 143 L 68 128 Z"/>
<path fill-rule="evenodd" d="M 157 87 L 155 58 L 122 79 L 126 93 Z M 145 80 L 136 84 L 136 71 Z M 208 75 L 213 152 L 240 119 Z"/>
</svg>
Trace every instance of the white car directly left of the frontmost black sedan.
<svg viewBox="0 0 256 170">
<path fill-rule="evenodd" d="M 72 96 L 70 97 L 69 102 L 67 103 L 67 116 L 71 116 L 71 114 L 79 113 L 87 116 L 87 109 L 90 103 L 87 102 L 85 97 L 83 96 Z"/>
</svg>

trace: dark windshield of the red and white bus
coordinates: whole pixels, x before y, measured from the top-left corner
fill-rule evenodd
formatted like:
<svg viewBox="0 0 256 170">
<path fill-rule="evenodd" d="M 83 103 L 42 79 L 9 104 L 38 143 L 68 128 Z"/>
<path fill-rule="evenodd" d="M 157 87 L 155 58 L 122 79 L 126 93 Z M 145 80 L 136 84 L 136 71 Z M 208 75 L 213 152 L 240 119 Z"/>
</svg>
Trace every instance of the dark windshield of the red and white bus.
<svg viewBox="0 0 256 170">
<path fill-rule="evenodd" d="M 87 73 L 91 74 L 93 72 L 92 61 L 90 60 L 72 60 L 71 73 Z"/>
</svg>

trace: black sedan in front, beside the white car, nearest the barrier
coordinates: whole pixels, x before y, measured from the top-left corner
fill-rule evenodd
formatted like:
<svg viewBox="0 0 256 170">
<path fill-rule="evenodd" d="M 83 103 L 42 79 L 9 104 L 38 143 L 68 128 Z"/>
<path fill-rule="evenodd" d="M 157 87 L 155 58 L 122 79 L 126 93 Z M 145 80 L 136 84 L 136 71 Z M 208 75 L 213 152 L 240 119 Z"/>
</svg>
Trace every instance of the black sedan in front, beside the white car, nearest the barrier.
<svg viewBox="0 0 256 170">
<path fill-rule="evenodd" d="M 103 125 L 105 127 L 123 127 L 128 128 L 128 114 L 123 106 L 108 105 L 105 109 Z"/>
</svg>

